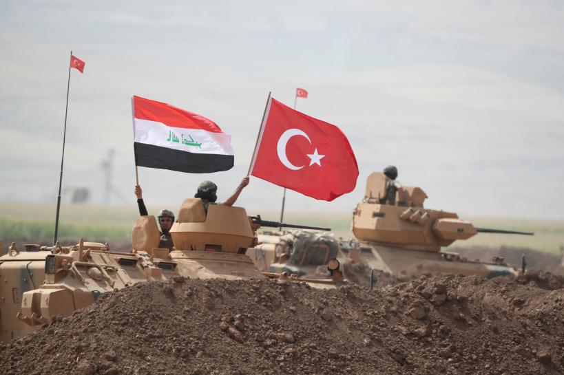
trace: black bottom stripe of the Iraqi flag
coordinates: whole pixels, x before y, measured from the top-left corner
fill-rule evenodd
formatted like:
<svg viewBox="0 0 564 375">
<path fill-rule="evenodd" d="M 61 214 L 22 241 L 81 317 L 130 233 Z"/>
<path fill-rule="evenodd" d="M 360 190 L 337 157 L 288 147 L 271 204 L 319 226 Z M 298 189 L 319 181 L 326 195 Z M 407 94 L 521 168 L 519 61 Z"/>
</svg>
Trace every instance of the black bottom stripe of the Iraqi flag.
<svg viewBox="0 0 564 375">
<path fill-rule="evenodd" d="M 135 164 L 139 167 L 170 169 L 187 173 L 227 171 L 233 167 L 233 155 L 191 153 L 134 142 Z"/>
</svg>

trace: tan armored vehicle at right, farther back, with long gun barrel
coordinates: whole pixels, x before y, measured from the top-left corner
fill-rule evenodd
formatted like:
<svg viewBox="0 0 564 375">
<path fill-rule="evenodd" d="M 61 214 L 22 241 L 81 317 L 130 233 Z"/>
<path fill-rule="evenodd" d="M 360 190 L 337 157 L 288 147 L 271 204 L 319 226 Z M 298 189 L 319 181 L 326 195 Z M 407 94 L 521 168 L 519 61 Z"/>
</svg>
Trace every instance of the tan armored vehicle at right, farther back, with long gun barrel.
<svg viewBox="0 0 564 375">
<path fill-rule="evenodd" d="M 364 200 L 353 211 L 352 229 L 360 241 L 357 249 L 368 266 L 399 276 L 443 272 L 495 277 L 518 272 L 501 258 L 492 262 L 469 261 L 457 253 L 440 250 L 480 232 L 533 233 L 474 228 L 456 213 L 424 208 L 427 195 L 419 187 L 404 187 L 397 192 L 395 204 L 389 204 L 386 179 L 384 173 L 370 174 Z"/>
</svg>

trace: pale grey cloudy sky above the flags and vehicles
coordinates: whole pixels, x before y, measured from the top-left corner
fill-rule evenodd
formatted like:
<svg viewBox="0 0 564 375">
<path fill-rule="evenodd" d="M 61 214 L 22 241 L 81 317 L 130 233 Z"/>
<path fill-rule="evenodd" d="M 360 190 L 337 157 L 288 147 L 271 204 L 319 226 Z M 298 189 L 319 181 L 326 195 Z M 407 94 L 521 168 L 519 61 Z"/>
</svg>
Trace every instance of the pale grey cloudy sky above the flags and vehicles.
<svg viewBox="0 0 564 375">
<path fill-rule="evenodd" d="M 289 211 L 353 210 L 388 164 L 426 207 L 564 219 L 562 1 L 0 2 L 0 202 L 56 204 L 70 51 L 63 188 L 135 204 L 131 96 L 196 112 L 232 135 L 235 166 L 139 168 L 149 206 L 176 211 L 202 180 L 226 199 L 247 174 L 268 92 L 344 131 L 356 189 L 333 202 L 289 191 Z M 67 195 L 67 196 L 65 196 Z M 67 190 L 63 201 L 68 199 Z M 280 208 L 251 178 L 238 205 Z"/>
</svg>

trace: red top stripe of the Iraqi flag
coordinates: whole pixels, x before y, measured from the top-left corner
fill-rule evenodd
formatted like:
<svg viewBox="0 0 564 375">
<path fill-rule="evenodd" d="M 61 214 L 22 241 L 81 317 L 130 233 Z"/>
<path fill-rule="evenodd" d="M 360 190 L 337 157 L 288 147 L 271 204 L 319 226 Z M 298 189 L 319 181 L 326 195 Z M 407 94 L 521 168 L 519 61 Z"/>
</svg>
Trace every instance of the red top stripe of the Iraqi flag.
<svg viewBox="0 0 564 375">
<path fill-rule="evenodd" d="M 193 114 L 167 103 L 140 98 L 139 96 L 134 96 L 133 101 L 134 117 L 139 120 L 161 122 L 169 127 L 202 129 L 222 133 L 220 127 L 215 122 L 204 116 Z"/>
</svg>

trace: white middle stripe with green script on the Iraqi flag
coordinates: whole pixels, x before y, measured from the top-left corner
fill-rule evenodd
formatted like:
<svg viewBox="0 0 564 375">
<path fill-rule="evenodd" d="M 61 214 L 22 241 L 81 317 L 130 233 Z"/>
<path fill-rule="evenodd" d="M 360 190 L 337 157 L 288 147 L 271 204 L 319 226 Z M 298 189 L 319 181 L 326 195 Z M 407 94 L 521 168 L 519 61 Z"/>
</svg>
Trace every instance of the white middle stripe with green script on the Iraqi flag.
<svg viewBox="0 0 564 375">
<path fill-rule="evenodd" d="M 202 129 L 169 127 L 162 122 L 134 118 L 135 142 L 191 153 L 233 155 L 231 136 Z"/>
</svg>

